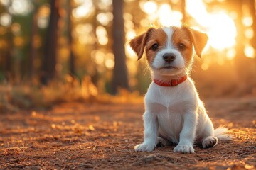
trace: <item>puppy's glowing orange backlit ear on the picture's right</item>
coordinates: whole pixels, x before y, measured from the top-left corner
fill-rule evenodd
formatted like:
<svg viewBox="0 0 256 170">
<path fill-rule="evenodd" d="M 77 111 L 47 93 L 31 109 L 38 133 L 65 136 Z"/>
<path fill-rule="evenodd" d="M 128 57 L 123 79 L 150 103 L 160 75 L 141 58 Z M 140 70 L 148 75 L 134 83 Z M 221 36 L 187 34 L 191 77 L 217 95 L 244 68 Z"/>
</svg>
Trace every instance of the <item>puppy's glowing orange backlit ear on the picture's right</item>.
<svg viewBox="0 0 256 170">
<path fill-rule="evenodd" d="M 208 35 L 206 35 L 206 33 L 201 33 L 200 31 L 193 30 L 191 28 L 188 28 L 188 31 L 190 33 L 196 55 L 201 58 L 203 48 L 206 46 L 206 43 L 208 41 Z"/>
</svg>

